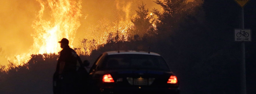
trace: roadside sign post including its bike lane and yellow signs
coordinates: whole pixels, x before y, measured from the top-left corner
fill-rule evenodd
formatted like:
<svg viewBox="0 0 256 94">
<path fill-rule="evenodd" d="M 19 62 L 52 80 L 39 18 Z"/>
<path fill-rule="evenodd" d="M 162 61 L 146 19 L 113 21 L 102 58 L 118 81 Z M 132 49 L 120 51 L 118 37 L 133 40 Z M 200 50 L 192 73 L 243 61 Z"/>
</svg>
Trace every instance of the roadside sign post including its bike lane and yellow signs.
<svg viewBox="0 0 256 94">
<path fill-rule="evenodd" d="M 240 40 L 242 40 L 241 43 L 241 94 L 246 94 L 246 66 L 245 66 L 245 45 L 244 45 L 244 37 L 247 38 L 247 33 L 249 34 L 249 32 L 247 30 L 244 29 L 244 14 L 243 14 L 243 7 L 250 1 L 250 0 L 234 0 L 242 9 L 241 11 L 241 26 L 240 29 L 240 33 L 241 33 L 241 37 L 243 34 L 242 39 L 240 38 Z M 237 32 L 237 33 L 236 33 Z M 251 30 L 250 30 L 251 32 Z M 235 29 L 235 38 L 236 37 L 240 37 L 240 33 L 239 30 Z M 250 34 L 251 35 L 251 34 Z M 249 37 L 249 36 L 248 36 Z M 251 36 L 250 36 L 251 37 Z M 236 39 L 235 39 L 236 41 Z M 251 41 L 251 40 L 250 40 Z"/>
</svg>

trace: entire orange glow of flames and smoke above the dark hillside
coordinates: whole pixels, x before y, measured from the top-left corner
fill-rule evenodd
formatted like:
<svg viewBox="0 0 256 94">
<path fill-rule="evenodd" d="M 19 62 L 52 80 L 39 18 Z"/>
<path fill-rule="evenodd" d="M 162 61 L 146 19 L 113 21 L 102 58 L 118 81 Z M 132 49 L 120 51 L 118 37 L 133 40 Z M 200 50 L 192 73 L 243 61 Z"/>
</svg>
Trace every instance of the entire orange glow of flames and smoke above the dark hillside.
<svg viewBox="0 0 256 94">
<path fill-rule="evenodd" d="M 145 2 L 149 9 L 161 9 L 152 1 Z M 134 34 L 129 31 L 133 26 L 130 19 L 136 16 L 134 10 L 142 1 L 4 0 L 1 3 L 3 11 L 0 12 L 4 14 L 1 22 L 10 23 L 3 25 L 6 29 L 0 27 L 7 31 L 1 35 L 0 63 L 7 66 L 8 61 L 22 65 L 32 54 L 58 53 L 61 51 L 58 41 L 62 38 L 69 40 L 71 48 L 81 48 L 79 39 L 95 40 L 96 46 L 104 45 L 110 33 L 113 42 L 129 41 Z M 87 49 L 86 55 L 90 55 L 91 50 L 95 49 Z"/>
</svg>

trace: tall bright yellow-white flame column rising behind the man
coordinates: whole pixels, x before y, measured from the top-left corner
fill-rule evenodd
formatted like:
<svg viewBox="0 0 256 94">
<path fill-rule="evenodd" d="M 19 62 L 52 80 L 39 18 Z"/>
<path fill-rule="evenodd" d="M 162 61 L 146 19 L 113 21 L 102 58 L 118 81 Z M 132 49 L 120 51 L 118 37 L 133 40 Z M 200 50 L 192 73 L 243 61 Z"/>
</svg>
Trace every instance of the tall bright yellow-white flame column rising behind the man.
<svg viewBox="0 0 256 94">
<path fill-rule="evenodd" d="M 80 26 L 81 0 L 36 1 L 41 9 L 32 25 L 34 44 L 30 52 L 15 56 L 17 62 L 29 60 L 31 54 L 58 53 L 61 50 L 58 41 L 62 38 L 67 38 L 73 47 L 76 30 Z"/>
</svg>

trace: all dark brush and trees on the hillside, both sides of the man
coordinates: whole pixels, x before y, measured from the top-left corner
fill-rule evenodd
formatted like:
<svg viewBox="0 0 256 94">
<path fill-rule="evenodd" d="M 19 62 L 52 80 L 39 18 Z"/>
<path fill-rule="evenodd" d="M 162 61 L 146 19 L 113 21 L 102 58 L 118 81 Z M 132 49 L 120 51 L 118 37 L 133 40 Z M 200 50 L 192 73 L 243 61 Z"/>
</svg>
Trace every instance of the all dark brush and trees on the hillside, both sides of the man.
<svg viewBox="0 0 256 94">
<path fill-rule="evenodd" d="M 138 5 L 137 16 L 131 19 L 134 23 L 133 31 L 152 32 L 152 24 L 155 22 L 157 29 L 153 30 L 153 36 L 139 36 L 141 34 L 135 33 L 129 41 L 120 41 L 124 37 L 119 35 L 116 29 L 116 32 L 108 34 L 106 44 L 97 45 L 95 40 L 82 39 L 81 48 L 75 50 L 82 60 L 89 60 L 91 65 L 105 51 L 156 52 L 165 58 L 177 74 L 181 94 L 240 93 L 240 43 L 234 42 L 232 35 L 232 30 L 238 28 L 236 23 L 221 22 L 221 17 L 212 18 L 212 15 L 219 15 L 210 14 L 211 9 L 206 7 L 210 4 L 206 3 L 204 6 L 201 0 L 190 3 L 185 0 L 173 1 L 155 2 L 164 9 L 163 12 L 152 9 L 157 19 L 148 14 L 146 4 Z M 220 9 L 215 10 L 221 12 Z M 255 26 L 253 27 L 255 22 L 252 23 L 254 24 L 248 27 L 256 30 Z M 255 33 L 252 36 L 255 36 Z M 252 40 L 251 43 L 246 43 L 247 89 L 251 94 L 256 93 L 255 37 Z M 6 66 L 1 65 L 1 94 L 52 93 L 52 75 L 58 57 L 58 54 L 38 54 L 31 55 L 30 61 L 23 66 L 10 62 L 6 69 Z"/>
</svg>

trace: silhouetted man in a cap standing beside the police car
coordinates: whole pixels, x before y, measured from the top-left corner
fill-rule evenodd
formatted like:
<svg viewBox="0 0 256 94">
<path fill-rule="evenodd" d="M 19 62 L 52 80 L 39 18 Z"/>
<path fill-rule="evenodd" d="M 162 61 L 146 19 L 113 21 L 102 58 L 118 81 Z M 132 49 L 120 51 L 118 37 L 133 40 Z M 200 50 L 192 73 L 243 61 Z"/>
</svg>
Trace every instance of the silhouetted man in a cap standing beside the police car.
<svg viewBox="0 0 256 94">
<path fill-rule="evenodd" d="M 69 41 L 66 38 L 63 38 L 59 43 L 62 50 L 54 73 L 54 94 L 76 94 L 76 71 L 79 56 L 76 51 L 69 47 Z"/>
</svg>

